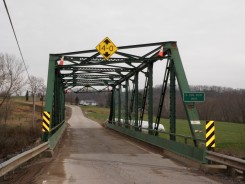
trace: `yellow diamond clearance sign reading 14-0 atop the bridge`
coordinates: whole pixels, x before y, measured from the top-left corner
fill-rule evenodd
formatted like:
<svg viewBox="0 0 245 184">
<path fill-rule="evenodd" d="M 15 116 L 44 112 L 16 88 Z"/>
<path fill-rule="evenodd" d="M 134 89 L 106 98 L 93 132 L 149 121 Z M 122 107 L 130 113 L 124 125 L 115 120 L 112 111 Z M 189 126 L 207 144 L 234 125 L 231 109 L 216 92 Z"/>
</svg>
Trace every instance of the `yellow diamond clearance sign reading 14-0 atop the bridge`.
<svg viewBox="0 0 245 184">
<path fill-rule="evenodd" d="M 106 37 L 96 46 L 96 49 L 106 60 L 108 60 L 117 51 L 117 46 Z"/>
</svg>

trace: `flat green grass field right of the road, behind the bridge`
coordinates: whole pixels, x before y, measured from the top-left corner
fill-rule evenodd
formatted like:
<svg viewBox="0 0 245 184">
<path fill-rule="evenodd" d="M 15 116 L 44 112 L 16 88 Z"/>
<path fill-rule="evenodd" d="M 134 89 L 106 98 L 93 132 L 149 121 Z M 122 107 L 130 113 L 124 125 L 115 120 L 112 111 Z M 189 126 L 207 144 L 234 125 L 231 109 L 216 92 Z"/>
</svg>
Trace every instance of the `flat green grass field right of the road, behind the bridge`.
<svg viewBox="0 0 245 184">
<path fill-rule="evenodd" d="M 82 106 L 85 115 L 99 123 L 105 122 L 109 117 L 109 109 L 102 107 Z M 145 116 L 147 118 L 147 116 Z M 145 119 L 147 120 L 147 119 Z M 169 121 L 161 119 L 166 131 L 169 130 Z M 205 122 L 201 122 L 203 132 L 205 132 Z M 181 135 L 191 135 L 187 120 L 178 119 L 176 122 L 176 133 Z M 228 155 L 245 157 L 245 124 L 215 122 L 216 150 Z M 168 135 L 161 135 L 168 138 Z M 177 139 L 178 140 L 178 139 Z M 183 140 L 180 140 L 183 142 Z M 190 141 L 189 141 L 190 142 Z M 188 143 L 189 143 L 188 142 Z"/>
</svg>

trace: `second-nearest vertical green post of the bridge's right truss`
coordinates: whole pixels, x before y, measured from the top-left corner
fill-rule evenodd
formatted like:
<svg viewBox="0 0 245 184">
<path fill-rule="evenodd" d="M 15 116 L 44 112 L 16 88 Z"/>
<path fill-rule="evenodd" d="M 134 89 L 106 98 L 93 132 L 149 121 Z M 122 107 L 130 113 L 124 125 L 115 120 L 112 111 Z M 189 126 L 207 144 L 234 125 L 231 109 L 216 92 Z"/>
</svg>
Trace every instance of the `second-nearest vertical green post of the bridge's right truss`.
<svg viewBox="0 0 245 184">
<path fill-rule="evenodd" d="M 153 124 L 153 63 L 148 65 L 148 133 L 152 134 L 152 124 Z"/>
</svg>

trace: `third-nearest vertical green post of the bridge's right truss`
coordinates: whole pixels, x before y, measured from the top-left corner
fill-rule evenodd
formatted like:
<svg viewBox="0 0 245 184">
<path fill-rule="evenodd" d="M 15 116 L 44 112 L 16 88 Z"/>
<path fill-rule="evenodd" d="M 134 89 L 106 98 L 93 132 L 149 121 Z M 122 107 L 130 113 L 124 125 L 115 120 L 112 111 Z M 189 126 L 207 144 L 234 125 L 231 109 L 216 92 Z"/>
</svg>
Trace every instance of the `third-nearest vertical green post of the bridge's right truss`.
<svg viewBox="0 0 245 184">
<path fill-rule="evenodd" d="M 134 126 L 135 126 L 135 130 L 138 131 L 138 102 L 139 102 L 139 73 L 136 72 L 135 73 L 135 77 L 134 77 L 134 89 L 135 89 L 135 92 L 134 92 L 134 95 L 135 95 L 135 105 L 134 105 L 134 112 L 135 112 L 135 118 L 134 118 Z"/>
</svg>

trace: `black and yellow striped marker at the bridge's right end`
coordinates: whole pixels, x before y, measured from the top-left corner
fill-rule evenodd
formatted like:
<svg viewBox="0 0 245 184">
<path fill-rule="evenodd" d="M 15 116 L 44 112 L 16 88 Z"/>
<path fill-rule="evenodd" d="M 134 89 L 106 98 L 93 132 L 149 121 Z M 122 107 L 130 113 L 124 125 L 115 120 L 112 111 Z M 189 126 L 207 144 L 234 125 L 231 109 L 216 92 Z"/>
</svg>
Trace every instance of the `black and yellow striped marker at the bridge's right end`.
<svg viewBox="0 0 245 184">
<path fill-rule="evenodd" d="M 214 121 L 206 121 L 206 147 L 210 150 L 215 148 Z"/>
</svg>

